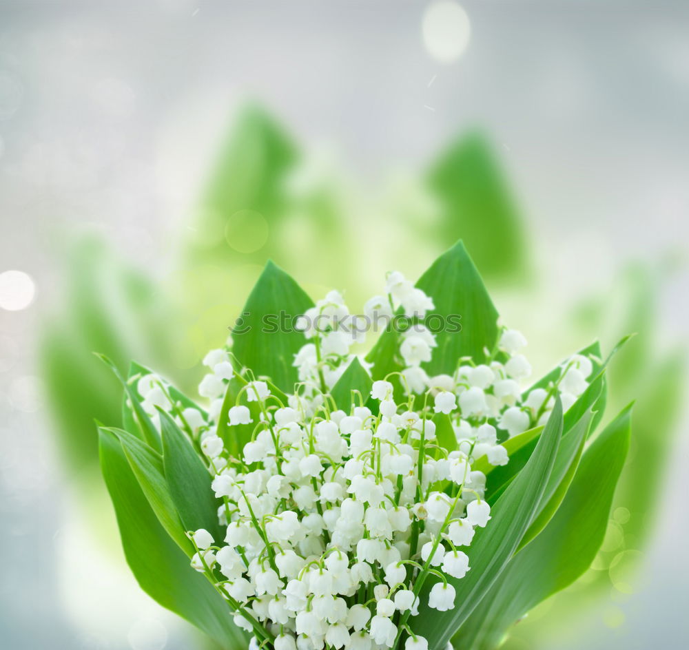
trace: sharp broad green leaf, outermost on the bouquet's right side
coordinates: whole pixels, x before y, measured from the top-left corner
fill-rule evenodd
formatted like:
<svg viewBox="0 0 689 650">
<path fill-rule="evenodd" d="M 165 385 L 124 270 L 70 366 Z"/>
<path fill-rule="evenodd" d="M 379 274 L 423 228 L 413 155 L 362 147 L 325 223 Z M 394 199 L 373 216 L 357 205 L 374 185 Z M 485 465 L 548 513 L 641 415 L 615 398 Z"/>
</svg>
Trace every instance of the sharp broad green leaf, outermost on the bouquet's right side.
<svg viewBox="0 0 689 650">
<path fill-rule="evenodd" d="M 603 541 L 629 447 L 630 407 L 590 444 L 559 509 L 460 628 L 456 650 L 493 650 L 513 622 L 581 576 Z"/>
</svg>

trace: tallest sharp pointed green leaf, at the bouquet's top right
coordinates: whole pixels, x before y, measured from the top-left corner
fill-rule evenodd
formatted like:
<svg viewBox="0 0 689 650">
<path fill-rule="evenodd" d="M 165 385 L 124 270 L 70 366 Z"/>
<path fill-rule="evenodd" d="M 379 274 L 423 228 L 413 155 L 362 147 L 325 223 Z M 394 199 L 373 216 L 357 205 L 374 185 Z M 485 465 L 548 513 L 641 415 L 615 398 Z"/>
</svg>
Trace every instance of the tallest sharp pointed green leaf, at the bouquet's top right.
<svg viewBox="0 0 689 650">
<path fill-rule="evenodd" d="M 435 335 L 437 347 L 433 348 L 431 361 L 424 364 L 426 372 L 452 375 L 460 357 L 483 361 L 485 350 L 493 350 L 497 342 L 497 311 L 464 244 L 457 242 L 440 255 L 416 286 L 433 299 L 432 314 L 445 319 L 445 326 Z M 426 316 L 431 331 L 438 328 L 433 315 Z M 394 332 L 384 332 L 369 353 L 367 360 L 373 363 L 374 379 L 399 369 L 391 366 L 390 361 L 396 336 Z"/>
</svg>

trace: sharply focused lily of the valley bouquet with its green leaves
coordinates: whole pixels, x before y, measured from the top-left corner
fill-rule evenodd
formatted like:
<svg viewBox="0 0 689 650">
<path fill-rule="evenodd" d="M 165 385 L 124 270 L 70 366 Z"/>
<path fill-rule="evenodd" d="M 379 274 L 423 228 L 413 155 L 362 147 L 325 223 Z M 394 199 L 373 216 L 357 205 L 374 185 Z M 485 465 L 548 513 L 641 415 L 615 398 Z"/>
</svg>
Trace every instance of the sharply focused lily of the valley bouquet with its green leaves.
<svg viewBox="0 0 689 650">
<path fill-rule="evenodd" d="M 269 263 L 203 405 L 133 364 L 100 428 L 138 582 L 222 647 L 490 650 L 601 545 L 630 409 L 595 434 L 597 344 L 530 382 L 461 243 L 380 284 L 357 315 Z"/>
</svg>

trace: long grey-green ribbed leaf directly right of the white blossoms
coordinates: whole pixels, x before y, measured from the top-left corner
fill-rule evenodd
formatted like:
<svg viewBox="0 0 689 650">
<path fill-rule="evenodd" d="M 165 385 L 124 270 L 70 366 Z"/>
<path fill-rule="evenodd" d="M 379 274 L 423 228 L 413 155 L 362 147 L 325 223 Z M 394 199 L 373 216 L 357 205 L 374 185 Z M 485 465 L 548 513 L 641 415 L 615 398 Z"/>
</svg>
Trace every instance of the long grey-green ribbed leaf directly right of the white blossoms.
<svg viewBox="0 0 689 650">
<path fill-rule="evenodd" d="M 492 509 L 491 521 L 477 531 L 467 549 L 471 571 L 461 580 L 449 580 L 456 590 L 454 609 L 430 609 L 427 589 L 422 591 L 420 614 L 411 620 L 411 625 L 415 633 L 428 640 L 429 647 L 445 647 L 513 556 L 546 490 L 562 437 L 562 424 L 562 404 L 558 399 L 524 470 L 507 487 Z"/>
</svg>

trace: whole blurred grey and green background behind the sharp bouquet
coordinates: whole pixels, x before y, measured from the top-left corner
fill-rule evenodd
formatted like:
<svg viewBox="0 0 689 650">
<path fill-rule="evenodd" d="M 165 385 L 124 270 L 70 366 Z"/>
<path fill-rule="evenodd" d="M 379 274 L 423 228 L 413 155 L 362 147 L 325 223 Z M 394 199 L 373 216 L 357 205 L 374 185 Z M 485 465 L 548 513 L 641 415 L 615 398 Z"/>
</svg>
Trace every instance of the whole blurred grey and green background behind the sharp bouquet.
<svg viewBox="0 0 689 650">
<path fill-rule="evenodd" d="M 637 333 L 601 554 L 506 647 L 683 647 L 688 33 L 680 0 L 0 0 L 1 647 L 207 647 L 125 567 L 93 350 L 193 392 L 268 258 L 360 310 L 458 238 L 536 374 Z"/>
</svg>

